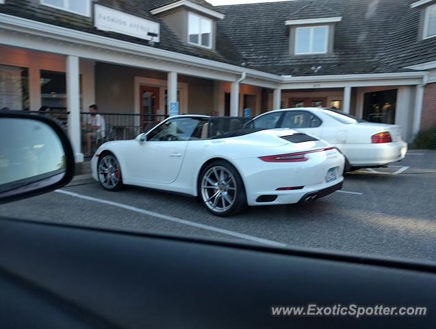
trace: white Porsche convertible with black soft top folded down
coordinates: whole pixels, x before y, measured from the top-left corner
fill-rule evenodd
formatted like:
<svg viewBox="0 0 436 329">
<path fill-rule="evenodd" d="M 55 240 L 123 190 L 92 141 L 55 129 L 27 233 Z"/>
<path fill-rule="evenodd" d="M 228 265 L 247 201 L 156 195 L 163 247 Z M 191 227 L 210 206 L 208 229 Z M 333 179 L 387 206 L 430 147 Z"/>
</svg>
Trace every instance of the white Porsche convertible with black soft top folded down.
<svg viewBox="0 0 436 329">
<path fill-rule="evenodd" d="M 123 184 L 199 196 L 214 215 L 310 202 L 342 188 L 344 156 L 294 130 L 242 129 L 244 118 L 183 115 L 92 158 L 103 188 Z"/>
</svg>

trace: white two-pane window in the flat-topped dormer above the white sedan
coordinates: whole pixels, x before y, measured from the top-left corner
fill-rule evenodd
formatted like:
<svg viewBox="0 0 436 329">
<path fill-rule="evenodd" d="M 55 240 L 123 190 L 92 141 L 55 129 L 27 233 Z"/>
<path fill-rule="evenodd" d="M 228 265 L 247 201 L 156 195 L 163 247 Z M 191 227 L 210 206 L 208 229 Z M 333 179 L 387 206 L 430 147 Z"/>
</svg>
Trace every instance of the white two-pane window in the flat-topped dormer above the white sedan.
<svg viewBox="0 0 436 329">
<path fill-rule="evenodd" d="M 326 53 L 328 38 L 328 26 L 297 27 L 295 30 L 295 54 Z"/>
</svg>

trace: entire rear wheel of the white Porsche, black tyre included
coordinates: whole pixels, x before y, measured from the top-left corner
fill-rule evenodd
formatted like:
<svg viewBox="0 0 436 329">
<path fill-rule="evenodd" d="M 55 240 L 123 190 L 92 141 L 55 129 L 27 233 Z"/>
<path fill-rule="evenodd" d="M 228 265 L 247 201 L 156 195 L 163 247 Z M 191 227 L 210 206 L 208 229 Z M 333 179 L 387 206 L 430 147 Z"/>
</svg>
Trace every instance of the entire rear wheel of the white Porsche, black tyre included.
<svg viewBox="0 0 436 329">
<path fill-rule="evenodd" d="M 226 217 L 246 206 L 244 183 L 238 171 L 229 162 L 211 162 L 198 180 L 201 201 L 214 215 Z"/>
</svg>

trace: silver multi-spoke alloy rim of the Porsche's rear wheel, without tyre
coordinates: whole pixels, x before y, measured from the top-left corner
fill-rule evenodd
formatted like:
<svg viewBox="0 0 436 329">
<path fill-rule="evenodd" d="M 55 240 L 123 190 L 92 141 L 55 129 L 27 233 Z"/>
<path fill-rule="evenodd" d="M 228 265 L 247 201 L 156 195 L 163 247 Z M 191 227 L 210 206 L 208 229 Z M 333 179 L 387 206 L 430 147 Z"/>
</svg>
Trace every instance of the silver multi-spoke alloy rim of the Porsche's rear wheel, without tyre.
<svg viewBox="0 0 436 329">
<path fill-rule="evenodd" d="M 210 167 L 201 179 L 201 197 L 215 214 L 231 210 L 238 199 L 238 183 L 233 173 L 219 165 Z"/>
</svg>

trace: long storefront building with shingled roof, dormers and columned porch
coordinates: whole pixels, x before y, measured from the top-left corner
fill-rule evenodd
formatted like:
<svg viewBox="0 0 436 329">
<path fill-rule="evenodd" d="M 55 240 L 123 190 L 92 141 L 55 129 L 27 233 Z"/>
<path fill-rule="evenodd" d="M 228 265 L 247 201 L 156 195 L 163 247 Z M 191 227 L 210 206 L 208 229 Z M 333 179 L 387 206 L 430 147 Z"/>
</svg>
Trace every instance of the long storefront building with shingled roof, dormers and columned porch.
<svg viewBox="0 0 436 329">
<path fill-rule="evenodd" d="M 68 111 L 77 162 L 92 103 L 142 128 L 329 106 L 410 140 L 436 125 L 435 36 L 436 0 L 0 0 L 0 108 Z"/>
</svg>

